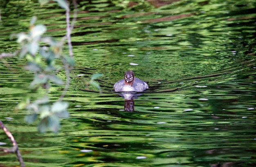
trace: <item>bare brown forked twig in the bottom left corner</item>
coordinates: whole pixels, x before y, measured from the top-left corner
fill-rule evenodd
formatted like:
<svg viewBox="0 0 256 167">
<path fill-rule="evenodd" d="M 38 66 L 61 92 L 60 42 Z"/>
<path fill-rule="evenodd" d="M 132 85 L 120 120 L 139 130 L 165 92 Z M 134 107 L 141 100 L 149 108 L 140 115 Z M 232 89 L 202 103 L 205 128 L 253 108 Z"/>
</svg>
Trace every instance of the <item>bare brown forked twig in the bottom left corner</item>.
<svg viewBox="0 0 256 167">
<path fill-rule="evenodd" d="M 5 153 L 16 153 L 17 155 L 17 158 L 20 162 L 20 167 L 25 167 L 25 164 L 24 164 L 24 161 L 21 157 L 21 154 L 20 154 L 20 150 L 18 148 L 18 145 L 14 139 L 14 137 L 12 136 L 11 132 L 9 132 L 7 130 L 7 127 L 4 126 L 4 124 L 2 123 L 2 121 L 0 120 L 0 126 L 1 128 L 4 130 L 5 134 L 9 137 L 9 139 L 11 140 L 11 143 L 13 145 L 13 147 L 11 147 L 11 149 L 6 149 L 6 148 L 0 148 L 0 150 L 4 151 Z"/>
</svg>

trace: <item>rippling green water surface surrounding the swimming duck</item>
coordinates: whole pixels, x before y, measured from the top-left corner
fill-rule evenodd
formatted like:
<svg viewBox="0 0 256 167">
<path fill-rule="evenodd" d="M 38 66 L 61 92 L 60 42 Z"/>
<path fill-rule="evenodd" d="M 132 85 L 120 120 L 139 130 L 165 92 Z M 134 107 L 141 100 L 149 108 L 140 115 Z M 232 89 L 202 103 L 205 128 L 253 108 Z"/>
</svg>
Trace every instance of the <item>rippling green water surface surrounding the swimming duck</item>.
<svg viewBox="0 0 256 167">
<path fill-rule="evenodd" d="M 256 166 L 256 2 L 254 0 L 79 3 L 72 32 L 76 67 L 65 100 L 70 117 L 60 133 L 40 134 L 13 108 L 33 78 L 22 60 L 0 63 L 0 119 L 31 167 L 250 167 Z M 134 4 L 134 5 L 133 5 Z M 133 5 L 133 6 L 132 6 Z M 65 12 L 55 3 L 2 3 L 0 51 L 18 48 L 11 33 L 27 31 L 31 16 L 47 35 L 65 35 Z M 134 56 L 128 56 L 134 55 Z M 137 64 L 137 65 L 134 65 Z M 149 89 L 134 112 L 113 85 L 133 70 Z M 103 93 L 85 82 L 94 73 Z M 77 76 L 81 75 L 83 76 Z M 62 74 L 59 75 L 62 77 Z M 62 86 L 51 88 L 58 99 Z M 0 132 L 0 142 L 11 146 Z M 0 152 L 0 166 L 16 166 Z"/>
</svg>

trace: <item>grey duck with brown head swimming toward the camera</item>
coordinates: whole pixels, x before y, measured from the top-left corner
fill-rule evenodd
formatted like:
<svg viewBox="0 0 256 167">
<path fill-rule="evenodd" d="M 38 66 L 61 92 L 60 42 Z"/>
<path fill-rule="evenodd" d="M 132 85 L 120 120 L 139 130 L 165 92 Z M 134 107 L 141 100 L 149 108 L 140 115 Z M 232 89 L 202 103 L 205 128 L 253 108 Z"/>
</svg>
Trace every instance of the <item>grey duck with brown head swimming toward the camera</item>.
<svg viewBox="0 0 256 167">
<path fill-rule="evenodd" d="M 117 81 L 114 85 L 115 92 L 143 92 L 148 89 L 148 84 L 134 77 L 132 70 L 124 73 L 124 79 Z"/>
</svg>

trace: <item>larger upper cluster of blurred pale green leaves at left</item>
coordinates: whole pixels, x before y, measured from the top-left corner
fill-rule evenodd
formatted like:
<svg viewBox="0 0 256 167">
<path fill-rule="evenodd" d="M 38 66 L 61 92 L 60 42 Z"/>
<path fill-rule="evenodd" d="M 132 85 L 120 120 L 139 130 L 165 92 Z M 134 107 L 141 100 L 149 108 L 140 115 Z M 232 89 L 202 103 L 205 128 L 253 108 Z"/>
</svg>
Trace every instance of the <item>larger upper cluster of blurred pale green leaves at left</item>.
<svg viewBox="0 0 256 167">
<path fill-rule="evenodd" d="M 25 68 L 35 74 L 30 87 L 42 86 L 42 88 L 49 89 L 50 82 L 64 84 L 56 76 L 56 73 L 61 70 L 61 67 L 56 65 L 56 61 L 61 59 L 63 66 L 68 64 L 69 67 L 72 67 L 74 59 L 63 54 L 63 43 L 55 41 L 52 37 L 42 37 L 46 32 L 46 27 L 42 24 L 34 26 L 35 21 L 36 18 L 33 17 L 28 33 L 16 34 L 17 42 L 21 46 L 20 59 L 25 57 L 28 61 Z M 44 45 L 40 46 L 42 44 Z"/>
</svg>

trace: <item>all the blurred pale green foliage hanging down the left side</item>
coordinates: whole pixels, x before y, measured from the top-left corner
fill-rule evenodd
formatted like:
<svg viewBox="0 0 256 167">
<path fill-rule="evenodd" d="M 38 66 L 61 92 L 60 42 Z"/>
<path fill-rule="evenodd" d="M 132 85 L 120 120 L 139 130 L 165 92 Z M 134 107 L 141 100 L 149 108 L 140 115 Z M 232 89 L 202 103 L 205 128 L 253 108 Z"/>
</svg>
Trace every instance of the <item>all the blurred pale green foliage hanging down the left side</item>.
<svg viewBox="0 0 256 167">
<path fill-rule="evenodd" d="M 65 0 L 55 0 L 59 6 L 69 10 Z M 39 0 L 43 5 L 49 0 Z M 29 32 L 18 33 L 13 36 L 17 37 L 17 42 L 20 44 L 20 59 L 26 59 L 27 64 L 25 69 L 34 73 L 34 80 L 30 84 L 30 88 L 34 90 L 38 88 L 45 89 L 47 94 L 51 83 L 63 85 L 64 81 L 57 74 L 65 70 L 66 75 L 69 75 L 70 70 L 74 66 L 74 58 L 63 53 L 63 41 L 56 41 L 52 37 L 45 37 L 43 34 L 47 31 L 46 26 L 42 24 L 34 25 L 36 17 L 31 18 Z M 67 76 L 66 76 L 67 77 Z M 68 79 L 69 77 L 67 77 Z M 68 87 L 69 81 L 66 82 Z M 25 116 L 27 123 L 33 123 L 39 117 L 38 124 L 39 132 L 46 132 L 47 129 L 57 133 L 60 129 L 59 118 L 67 118 L 68 103 L 65 101 L 49 103 L 49 97 L 45 95 L 34 102 L 29 99 L 25 102 L 20 102 L 15 110 L 26 109 L 29 115 Z"/>
</svg>

